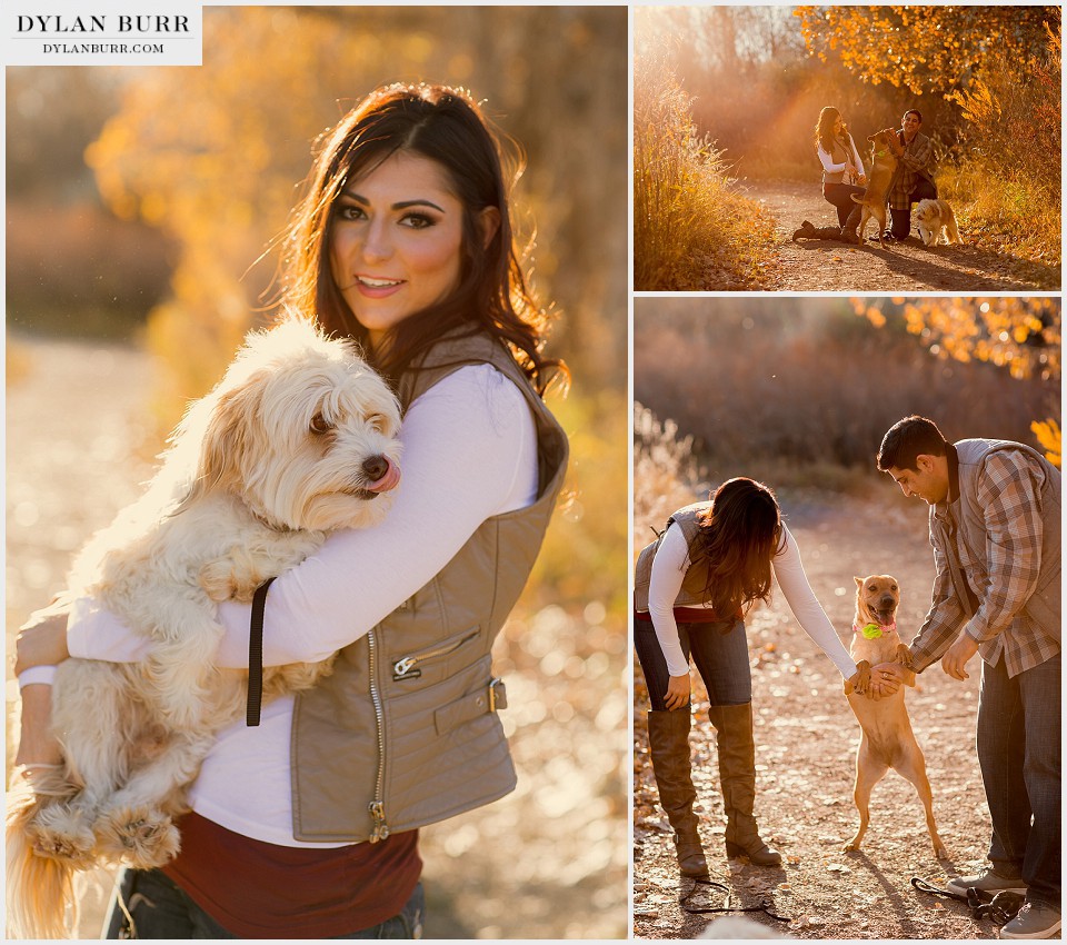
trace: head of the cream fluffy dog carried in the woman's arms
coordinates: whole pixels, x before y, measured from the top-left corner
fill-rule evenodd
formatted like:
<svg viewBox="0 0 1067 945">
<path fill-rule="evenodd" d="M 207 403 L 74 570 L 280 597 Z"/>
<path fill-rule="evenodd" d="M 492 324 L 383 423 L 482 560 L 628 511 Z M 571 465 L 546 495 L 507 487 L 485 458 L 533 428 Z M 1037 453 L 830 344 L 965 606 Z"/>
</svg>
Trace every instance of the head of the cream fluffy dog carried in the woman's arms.
<svg viewBox="0 0 1067 945">
<path fill-rule="evenodd" d="M 275 527 L 379 523 L 400 481 L 400 408 L 355 345 L 301 321 L 249 338 L 197 411 L 196 489 L 238 495 Z M 196 437 L 198 424 L 181 438 Z"/>
</svg>

